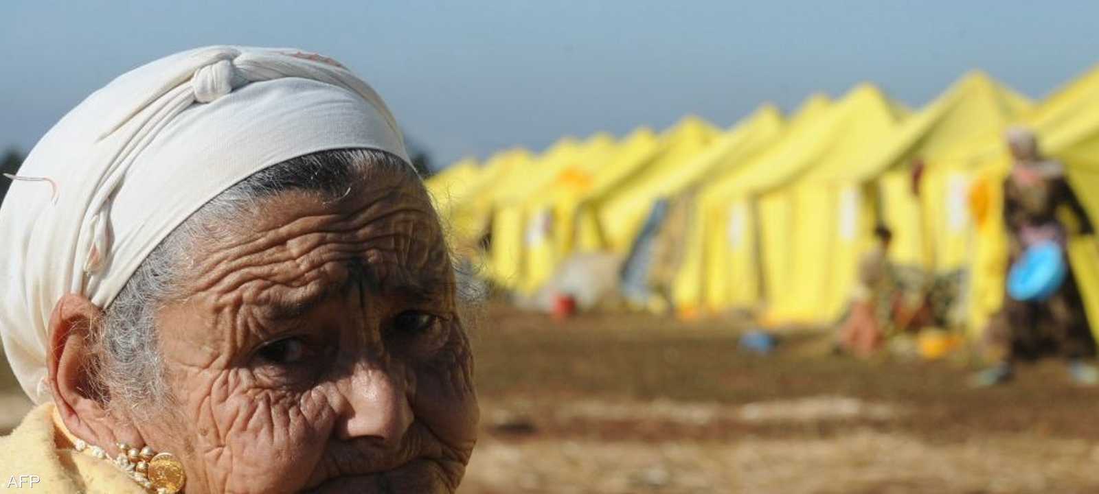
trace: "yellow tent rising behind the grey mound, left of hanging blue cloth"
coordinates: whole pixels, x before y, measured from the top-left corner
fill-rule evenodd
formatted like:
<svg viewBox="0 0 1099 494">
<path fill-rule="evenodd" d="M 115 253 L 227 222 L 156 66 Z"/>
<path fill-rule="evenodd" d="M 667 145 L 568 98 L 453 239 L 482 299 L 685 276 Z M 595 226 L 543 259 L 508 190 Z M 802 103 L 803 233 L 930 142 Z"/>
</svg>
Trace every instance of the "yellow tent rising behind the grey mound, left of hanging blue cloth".
<svg viewBox="0 0 1099 494">
<path fill-rule="evenodd" d="M 654 177 L 674 180 L 669 177 L 682 170 L 686 161 L 717 135 L 712 125 L 695 116 L 685 117 L 669 128 L 656 149 L 624 164 L 614 171 L 614 177 L 586 194 L 578 210 L 580 235 L 597 236 L 602 249 L 624 254 L 656 199 L 654 189 L 647 184 Z"/>
</svg>

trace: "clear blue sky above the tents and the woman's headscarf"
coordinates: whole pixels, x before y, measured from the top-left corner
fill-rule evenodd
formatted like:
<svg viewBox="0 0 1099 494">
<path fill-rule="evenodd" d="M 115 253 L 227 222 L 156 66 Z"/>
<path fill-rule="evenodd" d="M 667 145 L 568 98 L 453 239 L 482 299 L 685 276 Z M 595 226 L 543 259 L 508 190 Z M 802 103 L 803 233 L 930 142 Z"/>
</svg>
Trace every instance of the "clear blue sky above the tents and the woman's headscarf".
<svg viewBox="0 0 1099 494">
<path fill-rule="evenodd" d="M 0 3 L 0 146 L 27 149 L 111 78 L 209 44 L 341 60 L 440 164 L 687 113 L 729 125 L 863 80 L 920 105 L 983 68 L 1037 98 L 1099 61 L 1099 2 L 95 3 Z"/>
</svg>

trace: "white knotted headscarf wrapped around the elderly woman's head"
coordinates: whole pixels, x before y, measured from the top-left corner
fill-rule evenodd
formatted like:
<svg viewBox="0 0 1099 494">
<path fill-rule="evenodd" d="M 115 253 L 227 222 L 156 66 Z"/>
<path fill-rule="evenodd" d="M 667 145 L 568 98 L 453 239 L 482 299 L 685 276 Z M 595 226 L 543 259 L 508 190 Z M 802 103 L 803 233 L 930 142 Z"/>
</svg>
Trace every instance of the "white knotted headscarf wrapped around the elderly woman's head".
<svg viewBox="0 0 1099 494">
<path fill-rule="evenodd" d="M 96 91 L 34 147 L 0 206 L 0 336 L 26 394 L 51 400 L 49 315 L 67 293 L 107 307 L 173 229 L 268 166 L 337 148 L 408 161 L 381 98 L 334 60 L 211 46 Z"/>
</svg>

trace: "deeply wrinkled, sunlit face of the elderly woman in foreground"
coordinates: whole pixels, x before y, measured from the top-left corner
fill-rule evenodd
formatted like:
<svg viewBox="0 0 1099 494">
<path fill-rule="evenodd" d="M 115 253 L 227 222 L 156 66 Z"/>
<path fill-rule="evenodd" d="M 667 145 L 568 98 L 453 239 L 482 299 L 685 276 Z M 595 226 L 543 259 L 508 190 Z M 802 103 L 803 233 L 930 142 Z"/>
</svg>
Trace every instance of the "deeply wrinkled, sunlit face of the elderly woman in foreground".
<svg viewBox="0 0 1099 494">
<path fill-rule="evenodd" d="M 377 172 L 314 195 L 265 200 L 198 256 L 158 322 L 175 409 L 137 426 L 191 494 L 453 492 L 478 408 L 431 203 Z"/>
</svg>

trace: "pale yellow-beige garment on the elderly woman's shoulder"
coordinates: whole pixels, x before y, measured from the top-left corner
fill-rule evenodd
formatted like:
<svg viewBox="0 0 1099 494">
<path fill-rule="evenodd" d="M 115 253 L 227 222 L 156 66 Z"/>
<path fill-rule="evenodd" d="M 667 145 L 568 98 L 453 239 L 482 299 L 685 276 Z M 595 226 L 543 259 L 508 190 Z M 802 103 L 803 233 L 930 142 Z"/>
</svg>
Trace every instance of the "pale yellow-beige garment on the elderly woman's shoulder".
<svg viewBox="0 0 1099 494">
<path fill-rule="evenodd" d="M 54 426 L 53 412 L 52 403 L 38 405 L 15 430 L 0 437 L 0 487 L 47 494 L 145 493 L 110 461 L 74 450 Z M 20 481 L 22 489 L 15 486 Z"/>
</svg>

